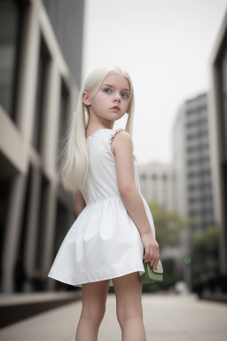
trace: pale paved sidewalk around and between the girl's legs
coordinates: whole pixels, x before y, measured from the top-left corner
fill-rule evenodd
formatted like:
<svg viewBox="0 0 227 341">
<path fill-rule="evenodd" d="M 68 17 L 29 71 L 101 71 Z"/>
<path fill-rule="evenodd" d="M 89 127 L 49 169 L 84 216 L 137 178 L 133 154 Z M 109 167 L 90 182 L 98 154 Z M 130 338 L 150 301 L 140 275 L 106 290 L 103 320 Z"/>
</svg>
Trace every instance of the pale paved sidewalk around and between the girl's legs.
<svg viewBox="0 0 227 341">
<path fill-rule="evenodd" d="M 147 341 L 226 341 L 227 305 L 187 296 L 142 297 Z M 82 301 L 0 329 L 3 341 L 74 341 Z M 121 341 L 114 294 L 109 294 L 98 341 Z M 138 340 L 139 341 L 139 340 Z"/>
</svg>

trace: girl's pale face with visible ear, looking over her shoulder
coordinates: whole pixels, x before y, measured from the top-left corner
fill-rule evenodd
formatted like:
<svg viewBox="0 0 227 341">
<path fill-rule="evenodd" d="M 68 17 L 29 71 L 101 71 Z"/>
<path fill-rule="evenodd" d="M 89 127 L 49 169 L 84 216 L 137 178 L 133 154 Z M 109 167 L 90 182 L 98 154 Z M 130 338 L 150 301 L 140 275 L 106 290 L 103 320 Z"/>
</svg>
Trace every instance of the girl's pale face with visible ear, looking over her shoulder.
<svg viewBox="0 0 227 341">
<path fill-rule="evenodd" d="M 122 75 L 106 76 L 96 96 L 90 99 L 89 113 L 109 121 L 119 120 L 129 107 L 129 89 L 129 81 Z"/>
</svg>

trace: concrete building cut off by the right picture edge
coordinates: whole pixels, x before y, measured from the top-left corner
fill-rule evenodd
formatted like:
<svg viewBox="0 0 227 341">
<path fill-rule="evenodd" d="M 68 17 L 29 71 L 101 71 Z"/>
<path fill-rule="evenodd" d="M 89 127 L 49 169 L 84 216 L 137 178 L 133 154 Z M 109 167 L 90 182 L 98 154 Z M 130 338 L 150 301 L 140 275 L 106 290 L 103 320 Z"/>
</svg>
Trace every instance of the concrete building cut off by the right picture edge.
<svg viewBox="0 0 227 341">
<path fill-rule="evenodd" d="M 210 58 L 209 127 L 220 273 L 227 276 L 227 11 Z M 225 286 L 226 290 L 226 286 Z M 226 291 L 225 291 L 226 292 Z"/>
</svg>

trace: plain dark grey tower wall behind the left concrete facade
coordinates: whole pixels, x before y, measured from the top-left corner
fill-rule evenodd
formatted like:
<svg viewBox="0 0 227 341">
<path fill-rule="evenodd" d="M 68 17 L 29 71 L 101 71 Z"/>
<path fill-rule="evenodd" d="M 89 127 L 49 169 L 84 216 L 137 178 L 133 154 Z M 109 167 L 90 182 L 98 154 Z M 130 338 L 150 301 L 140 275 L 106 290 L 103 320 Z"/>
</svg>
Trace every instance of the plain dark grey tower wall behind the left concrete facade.
<svg viewBox="0 0 227 341">
<path fill-rule="evenodd" d="M 84 1 L 43 0 L 43 4 L 67 66 L 81 87 Z"/>
</svg>

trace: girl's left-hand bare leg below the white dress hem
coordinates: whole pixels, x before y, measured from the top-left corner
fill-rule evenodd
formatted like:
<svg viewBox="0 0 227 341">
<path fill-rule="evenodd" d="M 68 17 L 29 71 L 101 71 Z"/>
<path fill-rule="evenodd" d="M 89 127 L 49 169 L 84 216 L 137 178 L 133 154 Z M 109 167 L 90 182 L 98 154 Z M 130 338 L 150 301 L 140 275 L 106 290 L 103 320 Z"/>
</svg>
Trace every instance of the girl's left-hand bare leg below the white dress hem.
<svg viewBox="0 0 227 341">
<path fill-rule="evenodd" d="M 82 313 L 75 341 L 97 341 L 98 329 L 106 311 L 109 280 L 82 284 Z"/>
</svg>

